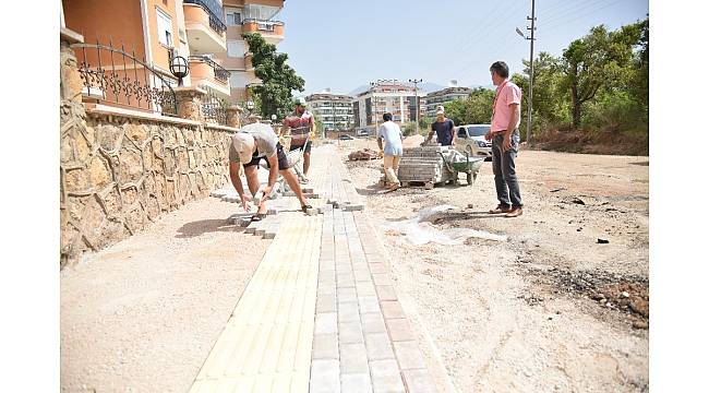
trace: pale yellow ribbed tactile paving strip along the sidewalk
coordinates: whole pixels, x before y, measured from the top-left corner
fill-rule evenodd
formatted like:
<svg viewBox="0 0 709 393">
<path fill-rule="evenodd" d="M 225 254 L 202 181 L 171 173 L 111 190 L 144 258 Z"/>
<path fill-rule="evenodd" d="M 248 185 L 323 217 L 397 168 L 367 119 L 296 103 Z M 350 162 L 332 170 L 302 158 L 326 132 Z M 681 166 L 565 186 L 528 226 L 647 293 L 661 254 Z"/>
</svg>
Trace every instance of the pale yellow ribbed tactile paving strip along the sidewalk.
<svg viewBox="0 0 709 393">
<path fill-rule="evenodd" d="M 308 392 L 322 216 L 283 224 L 190 392 Z"/>
</svg>

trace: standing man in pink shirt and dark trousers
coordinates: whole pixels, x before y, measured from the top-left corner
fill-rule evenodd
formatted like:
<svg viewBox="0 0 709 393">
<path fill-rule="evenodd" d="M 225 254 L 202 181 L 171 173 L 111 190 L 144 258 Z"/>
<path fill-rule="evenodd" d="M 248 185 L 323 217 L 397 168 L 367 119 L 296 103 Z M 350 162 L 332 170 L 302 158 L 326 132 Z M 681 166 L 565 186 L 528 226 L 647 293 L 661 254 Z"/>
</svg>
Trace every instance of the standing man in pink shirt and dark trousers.
<svg viewBox="0 0 709 393">
<path fill-rule="evenodd" d="M 521 90 L 508 80 L 509 68 L 504 61 L 492 63 L 490 74 L 497 90 L 492 104 L 492 122 L 485 139 L 492 141 L 492 171 L 495 174 L 495 189 L 500 201 L 497 207 L 490 213 L 518 217 L 522 213 L 522 203 L 515 158 L 519 148 Z"/>
</svg>

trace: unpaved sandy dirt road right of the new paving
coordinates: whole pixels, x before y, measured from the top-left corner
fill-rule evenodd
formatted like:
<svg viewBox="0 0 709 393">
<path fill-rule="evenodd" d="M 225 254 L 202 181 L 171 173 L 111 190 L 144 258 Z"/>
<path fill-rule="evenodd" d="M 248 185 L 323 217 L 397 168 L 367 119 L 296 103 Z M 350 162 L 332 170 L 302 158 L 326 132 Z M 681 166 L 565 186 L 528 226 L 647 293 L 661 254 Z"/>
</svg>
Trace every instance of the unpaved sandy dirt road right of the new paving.
<svg viewBox="0 0 709 393">
<path fill-rule="evenodd" d="M 339 150 L 346 157 L 364 145 Z M 491 163 L 473 187 L 377 194 L 381 165 L 348 163 L 397 290 L 458 392 L 648 391 L 647 157 L 522 151 L 525 213 L 512 219 L 486 213 L 497 203 Z M 457 209 L 430 217 L 434 228 L 508 240 L 416 246 L 387 229 L 441 204 Z"/>
</svg>

